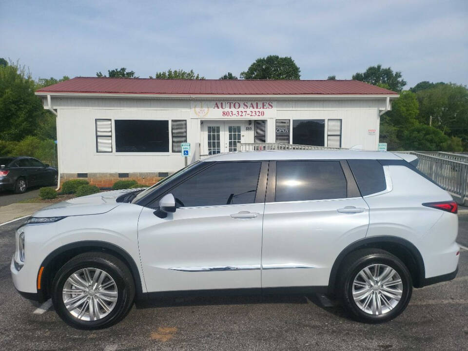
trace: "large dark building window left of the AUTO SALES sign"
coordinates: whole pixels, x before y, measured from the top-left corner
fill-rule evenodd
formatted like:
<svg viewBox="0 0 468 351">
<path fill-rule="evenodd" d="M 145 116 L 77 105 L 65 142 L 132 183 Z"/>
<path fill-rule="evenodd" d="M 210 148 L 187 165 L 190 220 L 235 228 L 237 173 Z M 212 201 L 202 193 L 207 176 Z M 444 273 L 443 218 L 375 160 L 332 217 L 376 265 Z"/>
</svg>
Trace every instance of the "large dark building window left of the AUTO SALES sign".
<svg viewBox="0 0 468 351">
<path fill-rule="evenodd" d="M 116 119 L 116 152 L 169 152 L 169 121 Z"/>
</svg>

